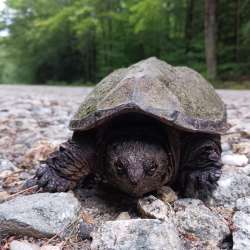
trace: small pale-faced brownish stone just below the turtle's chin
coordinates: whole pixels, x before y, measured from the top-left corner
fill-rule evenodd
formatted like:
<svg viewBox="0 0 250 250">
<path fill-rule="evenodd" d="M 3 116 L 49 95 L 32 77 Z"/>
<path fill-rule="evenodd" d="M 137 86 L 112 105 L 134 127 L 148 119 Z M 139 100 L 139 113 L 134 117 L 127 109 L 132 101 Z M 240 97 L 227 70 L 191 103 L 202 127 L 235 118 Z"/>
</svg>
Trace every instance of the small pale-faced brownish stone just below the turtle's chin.
<svg viewBox="0 0 250 250">
<path fill-rule="evenodd" d="M 138 211 L 144 218 L 165 220 L 168 218 L 170 208 L 153 195 L 141 198 L 137 203 Z"/>
</svg>

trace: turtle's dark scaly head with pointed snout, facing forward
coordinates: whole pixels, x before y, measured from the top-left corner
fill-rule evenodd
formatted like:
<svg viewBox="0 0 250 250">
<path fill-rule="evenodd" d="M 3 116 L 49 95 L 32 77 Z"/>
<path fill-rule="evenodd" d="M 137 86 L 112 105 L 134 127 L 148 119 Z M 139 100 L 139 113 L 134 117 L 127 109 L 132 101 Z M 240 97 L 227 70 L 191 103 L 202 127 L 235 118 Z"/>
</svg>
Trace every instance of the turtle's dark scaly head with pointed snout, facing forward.
<svg viewBox="0 0 250 250">
<path fill-rule="evenodd" d="M 170 152 L 157 139 L 121 137 L 107 146 L 106 171 L 109 183 L 141 196 L 171 180 Z"/>
</svg>

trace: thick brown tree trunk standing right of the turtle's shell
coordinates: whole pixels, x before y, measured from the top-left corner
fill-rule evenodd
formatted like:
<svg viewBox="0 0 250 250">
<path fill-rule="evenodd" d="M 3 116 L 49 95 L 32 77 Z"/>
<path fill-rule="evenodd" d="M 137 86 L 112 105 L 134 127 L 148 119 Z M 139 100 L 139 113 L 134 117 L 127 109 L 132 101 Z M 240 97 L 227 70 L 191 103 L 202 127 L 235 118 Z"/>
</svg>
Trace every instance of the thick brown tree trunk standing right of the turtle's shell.
<svg viewBox="0 0 250 250">
<path fill-rule="evenodd" d="M 208 77 L 216 78 L 216 0 L 205 0 L 205 47 Z"/>
</svg>

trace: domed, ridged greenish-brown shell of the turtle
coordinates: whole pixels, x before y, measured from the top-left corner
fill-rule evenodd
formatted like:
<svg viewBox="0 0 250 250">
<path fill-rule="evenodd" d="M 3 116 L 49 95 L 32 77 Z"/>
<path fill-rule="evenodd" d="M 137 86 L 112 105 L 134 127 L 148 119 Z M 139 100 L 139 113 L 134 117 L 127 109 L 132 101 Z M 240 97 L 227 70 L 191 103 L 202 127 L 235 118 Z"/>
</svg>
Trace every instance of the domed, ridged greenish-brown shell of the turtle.
<svg viewBox="0 0 250 250">
<path fill-rule="evenodd" d="M 129 112 L 191 132 L 227 129 L 225 105 L 210 83 L 188 67 L 154 57 L 104 78 L 80 105 L 70 129 L 89 130 Z"/>
</svg>

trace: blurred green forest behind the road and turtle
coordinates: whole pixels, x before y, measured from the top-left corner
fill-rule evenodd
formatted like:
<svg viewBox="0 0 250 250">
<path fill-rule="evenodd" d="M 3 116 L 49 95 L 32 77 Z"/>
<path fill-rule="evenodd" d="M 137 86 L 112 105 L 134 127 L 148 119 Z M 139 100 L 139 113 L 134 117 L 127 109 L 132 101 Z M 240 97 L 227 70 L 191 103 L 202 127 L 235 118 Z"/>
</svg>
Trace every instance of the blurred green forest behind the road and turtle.
<svg viewBox="0 0 250 250">
<path fill-rule="evenodd" d="M 250 0 L 0 0 L 0 83 L 97 83 L 156 56 L 250 88 Z"/>
</svg>

